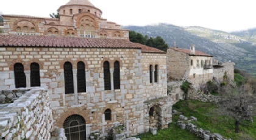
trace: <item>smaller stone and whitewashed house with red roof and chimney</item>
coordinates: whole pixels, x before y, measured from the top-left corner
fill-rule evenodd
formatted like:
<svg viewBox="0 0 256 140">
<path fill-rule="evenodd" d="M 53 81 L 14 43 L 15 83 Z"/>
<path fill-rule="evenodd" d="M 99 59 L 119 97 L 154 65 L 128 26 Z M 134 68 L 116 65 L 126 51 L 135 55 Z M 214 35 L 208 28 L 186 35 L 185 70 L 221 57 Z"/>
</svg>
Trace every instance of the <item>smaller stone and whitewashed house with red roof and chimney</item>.
<svg viewBox="0 0 256 140">
<path fill-rule="evenodd" d="M 169 81 L 190 80 L 196 86 L 213 79 L 213 55 L 190 49 L 170 47 L 167 51 Z"/>
</svg>

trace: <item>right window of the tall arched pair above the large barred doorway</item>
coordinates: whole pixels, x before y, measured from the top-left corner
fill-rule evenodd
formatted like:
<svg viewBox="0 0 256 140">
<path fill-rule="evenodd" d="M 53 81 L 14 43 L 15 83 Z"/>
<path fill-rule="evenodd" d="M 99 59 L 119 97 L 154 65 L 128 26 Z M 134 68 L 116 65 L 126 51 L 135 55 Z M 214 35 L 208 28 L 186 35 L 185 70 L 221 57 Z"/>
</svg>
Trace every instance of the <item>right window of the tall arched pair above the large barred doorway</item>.
<svg viewBox="0 0 256 140">
<path fill-rule="evenodd" d="M 82 61 L 77 63 L 77 92 L 86 92 L 85 86 L 85 64 Z"/>
</svg>

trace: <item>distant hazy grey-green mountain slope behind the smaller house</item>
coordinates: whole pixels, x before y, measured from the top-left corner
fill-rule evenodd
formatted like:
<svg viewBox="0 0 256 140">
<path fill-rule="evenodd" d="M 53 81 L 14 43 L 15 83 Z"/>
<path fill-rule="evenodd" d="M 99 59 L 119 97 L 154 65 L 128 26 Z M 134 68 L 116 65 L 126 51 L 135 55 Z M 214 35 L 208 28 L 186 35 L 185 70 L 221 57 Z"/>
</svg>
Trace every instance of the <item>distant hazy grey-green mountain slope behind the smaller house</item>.
<svg viewBox="0 0 256 140">
<path fill-rule="evenodd" d="M 227 33 L 204 27 L 178 27 L 171 24 L 125 26 L 124 29 L 134 30 L 149 37 L 160 36 L 169 47 L 174 46 L 174 41 L 177 47 L 185 49 L 194 44 L 197 51 L 211 54 L 222 62 L 234 61 L 236 68 L 256 76 L 256 29 Z"/>
</svg>

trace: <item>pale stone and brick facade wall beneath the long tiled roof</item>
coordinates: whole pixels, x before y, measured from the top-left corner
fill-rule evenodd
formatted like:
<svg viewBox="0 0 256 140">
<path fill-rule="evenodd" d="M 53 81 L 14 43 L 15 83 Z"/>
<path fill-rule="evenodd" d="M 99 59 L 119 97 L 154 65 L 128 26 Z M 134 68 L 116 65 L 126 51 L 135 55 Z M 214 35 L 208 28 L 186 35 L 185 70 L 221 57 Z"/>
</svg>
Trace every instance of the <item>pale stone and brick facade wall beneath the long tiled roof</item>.
<svg viewBox="0 0 256 140">
<path fill-rule="evenodd" d="M 144 90 L 147 90 L 141 80 L 144 76 L 141 73 L 141 55 L 141 49 L 1 47 L 0 88 L 15 88 L 15 63 L 23 64 L 29 87 L 30 64 L 36 62 L 40 65 L 41 86 L 49 88 L 52 114 L 57 127 L 63 127 L 66 117 L 78 114 L 86 121 L 87 137 L 94 130 L 99 130 L 101 137 L 107 136 L 116 124 L 126 126 L 127 136 L 137 135 L 144 131 L 141 111 Z M 164 62 L 164 56 L 158 57 L 158 61 Z M 116 60 L 120 63 L 121 89 L 104 90 L 103 63 L 109 61 L 110 72 L 113 73 Z M 65 94 L 63 65 L 66 61 L 73 64 L 74 89 L 77 87 L 77 63 L 85 63 L 86 93 Z M 159 82 L 162 85 L 154 87 L 160 92 L 154 92 L 166 94 L 166 74 L 160 73 L 165 72 L 163 62 L 158 63 Z M 148 94 L 157 95 L 152 92 Z M 104 111 L 107 108 L 112 110 L 112 121 L 105 121 Z"/>
</svg>

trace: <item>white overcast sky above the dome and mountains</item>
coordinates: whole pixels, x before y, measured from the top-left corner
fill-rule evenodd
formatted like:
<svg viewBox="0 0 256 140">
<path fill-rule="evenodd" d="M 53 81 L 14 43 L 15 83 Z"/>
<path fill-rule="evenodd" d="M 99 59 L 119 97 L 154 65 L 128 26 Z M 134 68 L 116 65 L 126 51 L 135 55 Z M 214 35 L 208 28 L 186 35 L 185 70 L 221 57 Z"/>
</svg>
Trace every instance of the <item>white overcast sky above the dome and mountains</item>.
<svg viewBox="0 0 256 140">
<path fill-rule="evenodd" d="M 2 0 L 3 14 L 49 17 L 69 0 Z M 169 23 L 234 31 L 256 27 L 255 0 L 90 0 L 103 18 L 123 26 Z"/>
</svg>

